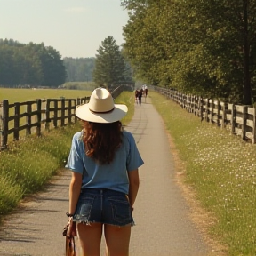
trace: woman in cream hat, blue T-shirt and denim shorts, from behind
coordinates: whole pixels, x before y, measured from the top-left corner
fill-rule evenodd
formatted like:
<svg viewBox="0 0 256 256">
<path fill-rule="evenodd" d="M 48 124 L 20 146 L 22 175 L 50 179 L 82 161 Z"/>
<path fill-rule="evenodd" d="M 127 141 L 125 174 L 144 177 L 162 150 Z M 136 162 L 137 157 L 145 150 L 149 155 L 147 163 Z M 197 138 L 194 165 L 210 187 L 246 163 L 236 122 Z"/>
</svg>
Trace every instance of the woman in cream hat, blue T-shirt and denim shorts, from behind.
<svg viewBox="0 0 256 256">
<path fill-rule="evenodd" d="M 68 216 L 76 222 L 84 256 L 100 256 L 103 230 L 109 256 L 129 255 L 138 168 L 144 163 L 132 133 L 119 121 L 127 110 L 103 88 L 76 108 L 84 129 L 74 135 L 66 165 L 72 171 Z"/>
</svg>

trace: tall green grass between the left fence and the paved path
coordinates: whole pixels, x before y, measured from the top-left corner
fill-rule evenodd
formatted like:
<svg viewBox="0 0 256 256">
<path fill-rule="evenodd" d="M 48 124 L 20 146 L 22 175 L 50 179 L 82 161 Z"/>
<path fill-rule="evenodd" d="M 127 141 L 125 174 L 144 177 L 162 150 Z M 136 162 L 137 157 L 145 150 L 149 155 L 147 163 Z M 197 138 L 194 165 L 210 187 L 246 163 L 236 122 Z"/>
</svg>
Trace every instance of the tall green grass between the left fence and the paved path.
<svg viewBox="0 0 256 256">
<path fill-rule="evenodd" d="M 116 103 L 128 106 L 128 114 L 121 121 L 124 125 L 132 119 L 134 112 L 133 93 L 122 92 Z M 37 138 L 31 135 L 11 143 L 10 148 L 0 152 L 0 220 L 12 212 L 20 199 L 41 188 L 61 172 L 64 167 L 73 134 L 82 129 L 82 124 L 70 124 L 43 132 Z"/>
</svg>

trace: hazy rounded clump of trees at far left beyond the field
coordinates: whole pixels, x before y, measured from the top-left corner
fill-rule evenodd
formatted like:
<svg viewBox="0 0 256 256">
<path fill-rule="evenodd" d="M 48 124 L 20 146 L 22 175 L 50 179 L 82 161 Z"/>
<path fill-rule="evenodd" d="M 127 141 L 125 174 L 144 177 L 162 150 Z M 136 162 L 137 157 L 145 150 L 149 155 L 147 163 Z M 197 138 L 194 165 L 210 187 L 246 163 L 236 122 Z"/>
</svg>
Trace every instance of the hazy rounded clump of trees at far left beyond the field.
<svg viewBox="0 0 256 256">
<path fill-rule="evenodd" d="M 51 46 L 0 39 L 1 85 L 56 87 L 66 76 L 60 53 Z"/>
</svg>

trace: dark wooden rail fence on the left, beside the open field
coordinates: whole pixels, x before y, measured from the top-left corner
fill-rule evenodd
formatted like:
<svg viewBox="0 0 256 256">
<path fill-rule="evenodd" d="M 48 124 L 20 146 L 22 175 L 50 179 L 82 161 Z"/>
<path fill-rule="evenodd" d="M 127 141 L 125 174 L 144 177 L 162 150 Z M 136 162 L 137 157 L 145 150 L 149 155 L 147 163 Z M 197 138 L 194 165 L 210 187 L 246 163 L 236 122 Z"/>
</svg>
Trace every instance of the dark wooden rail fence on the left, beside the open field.
<svg viewBox="0 0 256 256">
<path fill-rule="evenodd" d="M 111 92 L 115 99 L 123 91 L 122 86 Z M 41 135 L 43 130 L 75 123 L 76 106 L 87 103 L 90 97 L 77 99 L 37 99 L 10 104 L 9 100 L 0 102 L 0 150 L 8 148 L 8 140 L 20 140 L 24 134 Z M 23 134 L 22 134 L 22 132 Z M 24 137 L 25 137 L 24 136 Z"/>
</svg>

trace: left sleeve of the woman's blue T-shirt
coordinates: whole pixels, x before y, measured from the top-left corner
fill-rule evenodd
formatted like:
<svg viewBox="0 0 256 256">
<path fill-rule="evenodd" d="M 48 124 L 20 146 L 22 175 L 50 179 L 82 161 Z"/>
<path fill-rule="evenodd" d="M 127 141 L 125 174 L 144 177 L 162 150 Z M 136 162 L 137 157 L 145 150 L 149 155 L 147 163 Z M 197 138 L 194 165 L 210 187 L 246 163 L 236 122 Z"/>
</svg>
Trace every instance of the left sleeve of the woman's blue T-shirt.
<svg viewBox="0 0 256 256">
<path fill-rule="evenodd" d="M 73 172 L 79 172 L 83 174 L 84 171 L 84 162 L 83 157 L 81 156 L 81 149 L 79 147 L 80 143 L 83 143 L 82 140 L 79 140 L 80 136 L 76 133 L 73 136 L 72 144 L 68 156 L 68 162 L 65 165 L 65 168 L 72 170 Z"/>
</svg>

